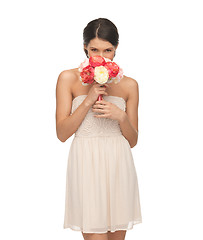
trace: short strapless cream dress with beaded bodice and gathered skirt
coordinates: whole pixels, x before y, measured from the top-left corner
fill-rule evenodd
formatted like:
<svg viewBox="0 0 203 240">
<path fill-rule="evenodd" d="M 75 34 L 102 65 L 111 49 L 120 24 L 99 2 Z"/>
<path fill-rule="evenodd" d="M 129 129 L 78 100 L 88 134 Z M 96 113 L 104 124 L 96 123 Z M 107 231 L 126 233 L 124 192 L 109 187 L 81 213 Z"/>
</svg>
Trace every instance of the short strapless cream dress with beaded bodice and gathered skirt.
<svg viewBox="0 0 203 240">
<path fill-rule="evenodd" d="M 71 114 L 86 97 L 73 99 Z M 125 111 L 123 98 L 103 98 Z M 83 233 L 130 230 L 142 222 L 131 148 L 117 120 L 96 114 L 89 109 L 70 145 L 63 227 Z"/>
</svg>

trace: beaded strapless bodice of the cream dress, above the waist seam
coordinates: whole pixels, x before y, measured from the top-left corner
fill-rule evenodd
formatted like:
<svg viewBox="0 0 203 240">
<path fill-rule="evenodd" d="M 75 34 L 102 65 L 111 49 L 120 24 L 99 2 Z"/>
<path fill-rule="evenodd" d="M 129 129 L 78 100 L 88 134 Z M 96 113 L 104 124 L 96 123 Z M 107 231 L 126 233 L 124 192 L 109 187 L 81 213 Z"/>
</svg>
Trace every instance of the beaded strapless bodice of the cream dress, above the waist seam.
<svg viewBox="0 0 203 240">
<path fill-rule="evenodd" d="M 72 101 L 71 114 L 84 101 L 87 95 L 79 95 Z M 111 102 L 125 111 L 126 102 L 122 97 L 103 95 L 105 101 Z M 92 107 L 87 112 L 85 118 L 75 132 L 77 137 L 96 137 L 96 136 L 117 136 L 122 135 L 119 122 L 110 118 L 96 118 L 94 115 L 100 113 L 93 112 Z"/>
</svg>

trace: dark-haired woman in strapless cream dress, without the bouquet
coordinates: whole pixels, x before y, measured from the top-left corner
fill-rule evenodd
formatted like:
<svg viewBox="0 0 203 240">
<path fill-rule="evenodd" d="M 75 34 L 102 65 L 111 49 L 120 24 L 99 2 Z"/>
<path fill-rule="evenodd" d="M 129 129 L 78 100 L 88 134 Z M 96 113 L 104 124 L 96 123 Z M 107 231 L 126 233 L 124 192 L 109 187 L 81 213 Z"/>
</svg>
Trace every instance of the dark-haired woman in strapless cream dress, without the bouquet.
<svg viewBox="0 0 203 240">
<path fill-rule="evenodd" d="M 83 32 L 86 56 L 113 60 L 116 26 L 99 18 Z M 56 132 L 71 143 L 64 228 L 88 240 L 123 240 L 141 223 L 139 190 L 131 148 L 138 139 L 138 83 L 124 77 L 101 87 L 80 81 L 78 68 L 60 73 L 56 86 Z M 102 94 L 103 100 L 97 101 Z"/>
</svg>

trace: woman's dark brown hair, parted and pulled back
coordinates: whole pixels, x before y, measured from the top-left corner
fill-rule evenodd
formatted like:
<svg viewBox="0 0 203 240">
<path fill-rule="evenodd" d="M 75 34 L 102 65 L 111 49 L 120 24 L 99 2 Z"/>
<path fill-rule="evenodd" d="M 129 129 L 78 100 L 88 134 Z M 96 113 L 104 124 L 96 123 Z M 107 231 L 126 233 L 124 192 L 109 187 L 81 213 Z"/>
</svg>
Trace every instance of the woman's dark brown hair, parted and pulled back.
<svg viewBox="0 0 203 240">
<path fill-rule="evenodd" d="M 119 42 L 119 34 L 117 27 L 107 18 L 97 18 L 87 24 L 83 30 L 83 44 L 86 46 L 94 38 L 110 42 L 113 46 L 117 46 Z M 88 52 L 84 49 L 86 56 Z"/>
</svg>

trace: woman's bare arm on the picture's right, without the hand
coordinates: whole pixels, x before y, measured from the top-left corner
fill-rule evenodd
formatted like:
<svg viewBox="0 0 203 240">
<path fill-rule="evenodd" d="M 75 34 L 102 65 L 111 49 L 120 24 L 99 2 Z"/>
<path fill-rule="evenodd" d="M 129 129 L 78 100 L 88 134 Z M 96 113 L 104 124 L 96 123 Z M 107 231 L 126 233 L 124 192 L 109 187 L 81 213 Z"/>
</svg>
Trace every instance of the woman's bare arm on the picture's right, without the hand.
<svg viewBox="0 0 203 240">
<path fill-rule="evenodd" d="M 131 79 L 129 83 L 129 97 L 126 104 L 127 111 L 119 119 L 120 128 L 124 137 L 133 148 L 138 140 L 138 104 L 139 86 L 136 80 Z"/>
</svg>

